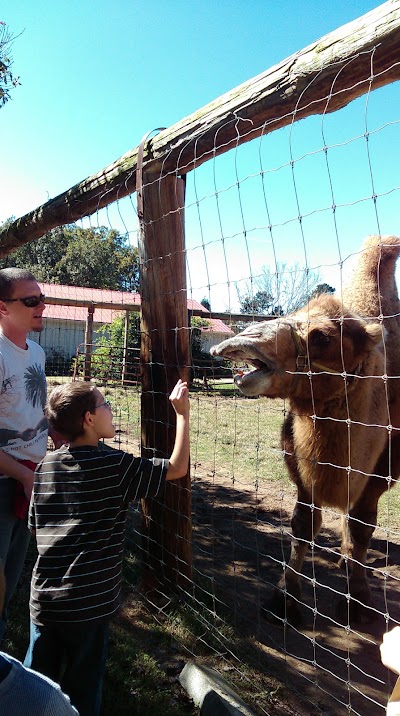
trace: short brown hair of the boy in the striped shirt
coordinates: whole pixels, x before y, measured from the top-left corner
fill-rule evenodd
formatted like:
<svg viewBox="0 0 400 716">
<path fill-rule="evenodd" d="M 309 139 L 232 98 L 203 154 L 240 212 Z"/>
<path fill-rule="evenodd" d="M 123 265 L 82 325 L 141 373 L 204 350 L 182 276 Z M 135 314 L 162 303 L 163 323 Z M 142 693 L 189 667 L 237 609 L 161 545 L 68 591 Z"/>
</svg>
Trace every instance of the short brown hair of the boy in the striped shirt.
<svg viewBox="0 0 400 716">
<path fill-rule="evenodd" d="M 83 381 L 58 385 L 47 402 L 47 418 L 54 430 L 68 440 L 83 435 L 83 418 L 96 410 L 94 386 Z"/>
</svg>

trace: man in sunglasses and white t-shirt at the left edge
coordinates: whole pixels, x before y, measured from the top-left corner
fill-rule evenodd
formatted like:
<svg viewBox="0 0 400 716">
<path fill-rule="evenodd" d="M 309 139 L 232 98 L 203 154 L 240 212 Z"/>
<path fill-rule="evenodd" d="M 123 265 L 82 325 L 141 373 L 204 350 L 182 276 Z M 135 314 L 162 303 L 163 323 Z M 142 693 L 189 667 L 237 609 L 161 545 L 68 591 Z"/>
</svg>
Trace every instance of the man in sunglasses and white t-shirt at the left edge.
<svg viewBox="0 0 400 716">
<path fill-rule="evenodd" d="M 7 584 L 0 642 L 30 539 L 33 473 L 47 449 L 45 355 L 27 338 L 43 330 L 44 300 L 29 271 L 0 270 L 0 559 Z"/>
</svg>

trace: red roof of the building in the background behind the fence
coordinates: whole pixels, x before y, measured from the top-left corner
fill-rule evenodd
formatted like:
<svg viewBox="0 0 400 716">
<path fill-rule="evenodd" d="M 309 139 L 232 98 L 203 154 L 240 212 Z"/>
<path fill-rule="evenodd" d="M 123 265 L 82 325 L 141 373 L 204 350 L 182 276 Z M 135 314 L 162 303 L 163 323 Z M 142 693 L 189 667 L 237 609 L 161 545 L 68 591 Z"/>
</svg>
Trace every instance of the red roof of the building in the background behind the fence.
<svg viewBox="0 0 400 716">
<path fill-rule="evenodd" d="M 116 303 L 118 306 L 136 304 L 140 306 L 140 294 L 128 291 L 110 291 L 104 288 L 85 288 L 83 286 L 62 286 L 56 283 L 41 283 L 39 285 L 49 298 L 70 298 L 93 303 Z M 193 298 L 187 299 L 188 309 L 201 311 L 204 317 L 210 322 L 210 326 L 202 328 L 208 333 L 233 334 L 229 326 L 218 318 L 208 318 L 209 311 Z M 57 306 L 46 304 L 45 318 L 52 318 L 64 321 L 86 321 L 87 306 Z M 112 323 L 123 312 L 120 308 L 96 308 L 93 315 L 94 323 Z"/>
</svg>

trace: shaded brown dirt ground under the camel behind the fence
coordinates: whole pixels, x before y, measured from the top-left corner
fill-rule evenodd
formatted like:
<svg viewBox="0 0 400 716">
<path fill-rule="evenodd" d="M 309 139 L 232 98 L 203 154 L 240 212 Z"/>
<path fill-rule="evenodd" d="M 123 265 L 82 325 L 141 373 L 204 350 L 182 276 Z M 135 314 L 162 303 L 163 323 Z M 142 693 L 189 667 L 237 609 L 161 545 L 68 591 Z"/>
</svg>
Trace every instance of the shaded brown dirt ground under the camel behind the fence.
<svg viewBox="0 0 400 716">
<path fill-rule="evenodd" d="M 389 628 L 400 620 L 400 545 L 376 530 L 368 557 L 374 620 L 346 628 L 340 623 L 347 623 L 339 596 L 347 591 L 346 573 L 337 565 L 340 518 L 324 513 L 314 559 L 310 553 L 306 558 L 304 623 L 298 629 L 272 623 L 264 605 L 289 555 L 290 538 L 281 526 L 289 530 L 294 489 L 269 483 L 256 491 L 221 475 L 217 481 L 202 466 L 193 473 L 195 569 L 213 578 L 255 662 L 298 695 L 292 713 L 383 716 L 394 682 L 381 665 L 379 643 L 387 628 L 383 615 L 390 615 Z M 271 713 L 286 713 L 277 709 Z"/>
</svg>

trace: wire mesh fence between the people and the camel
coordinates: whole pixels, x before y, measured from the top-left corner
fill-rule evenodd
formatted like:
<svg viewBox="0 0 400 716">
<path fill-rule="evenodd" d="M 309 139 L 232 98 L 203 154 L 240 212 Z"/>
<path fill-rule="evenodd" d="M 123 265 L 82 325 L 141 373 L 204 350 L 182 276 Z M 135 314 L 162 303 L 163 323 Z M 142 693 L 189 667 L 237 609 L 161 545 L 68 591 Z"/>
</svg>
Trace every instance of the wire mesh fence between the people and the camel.
<svg viewBox="0 0 400 716">
<path fill-rule="evenodd" d="M 133 507 L 127 578 L 140 555 L 150 571 L 153 568 L 154 579 L 147 579 L 144 591 L 160 614 L 171 603 L 171 586 L 178 586 L 186 614 L 185 648 L 194 655 L 212 653 L 244 682 L 252 683 L 254 674 L 261 674 L 254 694 L 254 708 L 260 713 L 270 713 L 273 705 L 271 693 L 265 696 L 260 691 L 268 692 L 268 673 L 295 691 L 299 713 L 303 713 L 300 703 L 306 702 L 308 713 L 378 716 L 384 713 L 391 688 L 378 647 L 384 631 L 400 623 L 399 495 L 396 486 L 388 489 L 398 479 L 400 427 L 399 374 L 393 358 L 400 332 L 394 288 L 397 240 L 390 244 L 394 254 L 386 273 L 382 273 L 385 249 L 379 241 L 376 244 L 375 263 L 364 275 L 364 284 L 372 286 L 369 303 L 362 274 L 349 310 L 337 298 L 346 285 L 355 285 L 352 272 L 372 251 L 362 246 L 363 238 L 396 231 L 399 87 L 392 83 L 372 91 L 377 76 L 375 50 L 367 52 L 368 73 L 360 79 L 358 70 L 354 72 L 356 83 L 364 83 L 368 91 L 348 104 L 344 101 L 343 108 L 331 112 L 330 107 L 336 95 L 347 90 L 350 99 L 354 94 L 350 80 L 347 87 L 338 85 L 342 64 L 331 68 L 330 94 L 315 98 L 315 80 L 306 84 L 286 126 L 281 117 L 276 118 L 277 131 L 271 131 L 269 120 L 254 137 L 251 120 L 234 115 L 227 124 L 237 127 L 237 141 L 228 142 L 220 127 L 214 132 L 212 150 L 203 151 L 201 134 L 192 142 L 190 171 L 184 171 L 185 145 L 175 167 L 171 169 L 166 159 L 157 174 L 145 173 L 141 187 L 145 207 L 146 192 L 150 197 L 145 212 L 158 204 L 155 218 L 145 213 L 144 223 L 155 233 L 158 253 L 143 253 L 143 226 L 129 192 L 118 198 L 117 189 L 104 208 L 102 189 L 98 210 L 78 219 L 82 229 L 114 229 L 139 247 L 142 313 L 146 301 L 157 300 L 161 306 L 159 323 L 144 326 L 142 322 L 142 357 L 137 345 L 127 342 L 123 327 L 132 312 L 132 295 L 117 300 L 99 289 L 86 300 L 81 289 L 70 287 L 68 299 L 73 305 L 62 306 L 57 303 L 60 295 L 53 296 L 47 334 L 40 337 L 46 343 L 50 384 L 75 377 L 104 386 L 118 424 L 114 444 L 133 452 L 143 449 L 144 396 L 153 407 L 152 417 L 146 414 L 145 449 L 155 454 L 160 427 L 166 429 L 167 442 L 173 435 L 165 386 L 173 374 L 189 376 L 190 532 L 181 529 L 182 521 L 188 520 L 181 510 L 187 504 L 187 484 L 174 486 L 168 504 L 161 501 L 158 506 L 155 514 L 162 520 L 162 538 L 152 532 L 155 514 L 147 512 L 143 520 L 139 508 Z M 352 62 L 358 67 L 359 55 L 346 60 L 348 78 Z M 393 64 L 388 73 L 393 72 Z M 323 107 L 320 114 L 297 121 L 302 116 L 300 104 L 309 106 L 317 100 Z M 205 135 L 210 136 L 209 127 Z M 229 151 L 224 151 L 226 144 Z M 178 181 L 183 174 L 184 192 L 177 190 L 175 203 L 163 205 L 164 179 Z M 125 177 L 121 195 L 128 183 Z M 77 216 L 75 205 L 72 214 Z M 184 230 L 183 246 L 174 244 L 165 230 L 171 216 L 175 226 Z M 182 255 L 186 271 L 178 280 L 176 262 Z M 155 269 L 156 287 L 152 283 L 153 293 L 145 297 L 143 289 L 153 281 L 149 275 Z M 318 311 L 308 306 L 299 313 L 319 292 L 325 295 L 313 304 Z M 253 333 L 247 329 L 246 346 L 240 336 L 239 343 L 231 343 L 234 349 L 227 357 L 232 358 L 232 366 L 240 364 L 236 383 L 234 371 L 225 364 L 218 372 L 211 356 L 207 364 L 203 355 L 197 373 L 190 373 L 193 356 L 182 352 L 180 344 L 182 335 L 189 339 L 189 322 L 180 318 L 172 327 L 164 326 L 162 313 L 168 304 L 165 311 L 170 315 L 171 305 L 178 306 L 182 296 L 185 304 L 192 301 L 198 306 L 205 299 L 210 320 L 224 314 L 228 332 L 215 331 L 213 337 L 209 330 L 208 348 L 224 339 L 236 340 L 232 331 L 237 333 L 246 324 L 238 327 L 234 314 L 253 313 L 255 319 L 268 314 L 271 320 L 262 328 Z M 341 307 L 334 316 L 329 297 Z M 120 321 L 117 342 L 111 328 L 115 321 Z M 317 329 L 318 340 L 313 343 L 310 332 Z M 289 340 L 281 343 L 282 331 Z M 161 353 L 154 347 L 160 336 Z M 338 341 L 333 345 L 335 336 Z M 149 343 L 145 358 L 144 337 Z M 269 358 L 264 360 L 264 339 L 273 344 L 273 359 L 269 346 Z M 257 350 L 249 349 L 252 341 Z M 169 352 L 164 358 L 166 345 Z M 317 359 L 312 362 L 316 345 L 325 351 L 322 365 Z M 306 361 L 302 366 L 292 360 L 295 349 L 295 358 L 299 356 L 299 346 Z M 348 359 L 349 354 L 354 360 Z M 372 354 L 375 367 L 368 372 L 365 361 Z M 256 390 L 249 395 L 246 380 L 254 376 L 246 378 L 242 363 L 268 374 L 274 372 L 278 359 L 280 385 L 287 380 L 290 388 L 276 389 L 275 394 L 265 388 L 266 397 L 260 399 Z M 382 367 L 380 372 L 375 364 Z M 150 377 L 143 382 L 147 368 Z M 306 408 L 300 402 L 300 384 L 307 385 L 310 395 Z M 361 411 L 353 408 L 353 386 L 361 396 Z M 371 399 L 371 392 L 379 397 Z M 309 431 L 302 438 L 294 427 L 297 418 L 308 423 Z M 283 441 L 282 425 L 286 426 Z M 301 439 L 304 444 L 299 447 Z M 347 454 L 342 462 L 337 461 L 338 444 Z M 311 476 L 308 491 L 301 487 L 305 463 Z M 292 478 L 298 478 L 299 490 L 289 479 L 288 466 Z M 318 492 L 313 474 L 329 485 L 326 499 Z M 335 497 L 343 490 L 344 503 L 342 497 Z M 374 530 L 374 505 L 380 494 Z M 300 523 L 308 525 L 305 530 L 298 527 Z M 189 552 L 175 551 L 177 542 L 189 541 L 189 534 Z M 292 557 L 293 549 L 297 557 L 306 552 L 304 565 L 300 558 L 289 562 L 291 547 Z M 190 564 L 185 562 L 188 554 Z M 175 577 L 183 579 L 171 577 L 171 563 Z M 277 585 L 280 609 L 274 606 Z"/>
</svg>

